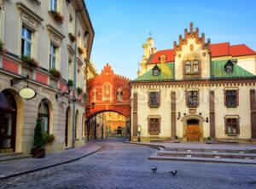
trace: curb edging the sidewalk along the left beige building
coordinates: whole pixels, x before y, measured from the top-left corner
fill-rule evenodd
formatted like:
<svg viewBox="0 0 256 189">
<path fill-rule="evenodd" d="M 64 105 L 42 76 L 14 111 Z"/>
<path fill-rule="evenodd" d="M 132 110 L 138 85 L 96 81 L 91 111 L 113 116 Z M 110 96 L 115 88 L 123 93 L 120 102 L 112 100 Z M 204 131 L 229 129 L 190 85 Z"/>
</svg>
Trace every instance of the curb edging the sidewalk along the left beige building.
<svg viewBox="0 0 256 189">
<path fill-rule="evenodd" d="M 73 158 L 73 159 L 70 159 L 70 160 L 67 160 L 67 161 L 63 161 L 61 163 L 50 164 L 50 165 L 40 167 L 40 168 L 37 168 L 37 169 L 30 169 L 30 170 L 23 171 L 23 172 L 20 172 L 20 173 L 15 173 L 13 175 L 6 175 L 6 176 L 3 176 L 3 177 L 0 177 L 0 180 L 9 179 L 11 177 L 15 177 L 15 176 L 19 176 L 19 175 L 25 175 L 25 174 L 29 174 L 29 173 L 32 173 L 32 172 L 35 172 L 35 171 L 38 171 L 38 170 L 48 169 L 48 168 L 52 168 L 52 167 L 55 167 L 55 166 L 58 166 L 58 165 L 61 165 L 61 164 L 71 163 L 71 162 L 77 161 L 81 158 L 85 158 L 87 156 L 90 156 L 90 155 L 92 155 L 92 154 L 94 154 L 94 153 L 96 153 L 96 152 L 98 152 L 99 150 L 102 149 L 102 146 L 99 146 L 99 145 L 96 145 L 96 146 L 98 146 L 98 149 L 96 151 L 85 154 L 85 155 L 83 155 L 79 158 Z"/>
</svg>

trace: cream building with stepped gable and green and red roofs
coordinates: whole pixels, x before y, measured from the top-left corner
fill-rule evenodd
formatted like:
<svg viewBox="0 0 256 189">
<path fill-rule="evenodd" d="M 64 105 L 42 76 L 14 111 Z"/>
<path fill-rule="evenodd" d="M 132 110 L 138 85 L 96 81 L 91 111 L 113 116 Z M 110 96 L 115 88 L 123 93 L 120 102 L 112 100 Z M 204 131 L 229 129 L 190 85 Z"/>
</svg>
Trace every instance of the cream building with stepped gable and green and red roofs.
<svg viewBox="0 0 256 189">
<path fill-rule="evenodd" d="M 131 82 L 131 139 L 255 141 L 256 52 L 245 44 L 212 44 L 198 28 L 184 30 L 173 49 L 143 44 Z M 140 130 L 138 130 L 138 128 Z"/>
</svg>

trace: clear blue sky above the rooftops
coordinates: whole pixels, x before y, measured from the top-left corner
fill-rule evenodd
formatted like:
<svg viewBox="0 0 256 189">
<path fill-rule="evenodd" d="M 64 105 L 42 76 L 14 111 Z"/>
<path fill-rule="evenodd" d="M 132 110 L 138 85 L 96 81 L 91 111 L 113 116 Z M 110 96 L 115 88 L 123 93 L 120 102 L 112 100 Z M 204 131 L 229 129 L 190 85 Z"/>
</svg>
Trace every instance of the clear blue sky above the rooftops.
<svg viewBox="0 0 256 189">
<path fill-rule="evenodd" d="M 96 36 L 91 60 L 98 72 L 106 63 L 119 75 L 137 77 L 142 44 L 152 33 L 155 46 L 172 49 L 189 22 L 212 43 L 245 43 L 256 51 L 254 0 L 85 0 Z"/>
</svg>

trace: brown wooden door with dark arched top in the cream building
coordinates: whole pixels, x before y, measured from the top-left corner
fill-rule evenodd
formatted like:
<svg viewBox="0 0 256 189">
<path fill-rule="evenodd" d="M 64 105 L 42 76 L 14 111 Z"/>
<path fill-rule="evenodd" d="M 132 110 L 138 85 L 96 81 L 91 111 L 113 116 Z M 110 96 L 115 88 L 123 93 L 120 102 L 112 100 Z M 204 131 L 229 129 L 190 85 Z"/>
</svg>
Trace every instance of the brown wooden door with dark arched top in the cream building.
<svg viewBox="0 0 256 189">
<path fill-rule="evenodd" d="M 199 141 L 200 140 L 200 128 L 199 121 L 196 119 L 189 119 L 187 121 L 187 140 Z"/>
</svg>

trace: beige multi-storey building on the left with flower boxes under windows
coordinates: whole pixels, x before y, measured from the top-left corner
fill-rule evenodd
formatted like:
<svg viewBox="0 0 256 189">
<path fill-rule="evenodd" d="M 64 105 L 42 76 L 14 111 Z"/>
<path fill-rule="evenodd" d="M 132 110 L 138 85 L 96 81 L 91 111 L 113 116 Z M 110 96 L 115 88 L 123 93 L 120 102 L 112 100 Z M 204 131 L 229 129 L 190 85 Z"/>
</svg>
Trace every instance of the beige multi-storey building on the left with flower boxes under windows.
<svg viewBox="0 0 256 189">
<path fill-rule="evenodd" d="M 55 135 L 47 152 L 84 145 L 85 71 L 94 38 L 84 1 L 0 0 L 0 8 L 0 151 L 29 154 L 38 118 Z M 19 94 L 27 85 L 37 94 L 31 100 Z"/>
</svg>

